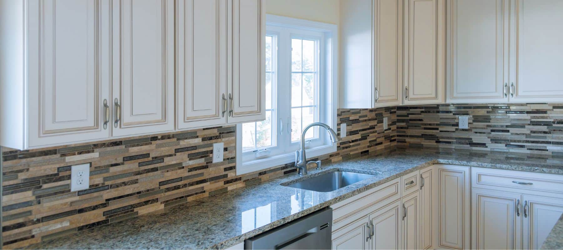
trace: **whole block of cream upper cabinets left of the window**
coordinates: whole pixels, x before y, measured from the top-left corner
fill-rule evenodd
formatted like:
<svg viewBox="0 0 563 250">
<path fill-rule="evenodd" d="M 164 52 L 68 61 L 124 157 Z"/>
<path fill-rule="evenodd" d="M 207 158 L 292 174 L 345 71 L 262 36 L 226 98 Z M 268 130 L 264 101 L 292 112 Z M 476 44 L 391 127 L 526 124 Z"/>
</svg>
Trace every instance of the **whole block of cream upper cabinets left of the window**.
<svg viewBox="0 0 563 250">
<path fill-rule="evenodd" d="M 0 77 L 13 83 L 1 85 L 0 117 L 10 119 L 0 120 L 0 145 L 34 149 L 265 119 L 264 5 L 0 2 L 0 34 L 10 34 L 1 37 Z"/>
</svg>

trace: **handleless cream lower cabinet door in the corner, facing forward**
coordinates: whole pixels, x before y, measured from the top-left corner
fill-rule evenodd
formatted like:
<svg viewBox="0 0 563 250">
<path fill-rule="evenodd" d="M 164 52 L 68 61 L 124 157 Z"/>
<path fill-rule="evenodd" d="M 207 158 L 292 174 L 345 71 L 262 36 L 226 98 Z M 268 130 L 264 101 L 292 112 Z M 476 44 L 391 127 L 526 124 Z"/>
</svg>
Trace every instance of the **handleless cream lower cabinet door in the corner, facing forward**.
<svg viewBox="0 0 563 250">
<path fill-rule="evenodd" d="M 436 165 L 437 245 L 450 249 L 470 248 L 470 168 Z"/>
</svg>

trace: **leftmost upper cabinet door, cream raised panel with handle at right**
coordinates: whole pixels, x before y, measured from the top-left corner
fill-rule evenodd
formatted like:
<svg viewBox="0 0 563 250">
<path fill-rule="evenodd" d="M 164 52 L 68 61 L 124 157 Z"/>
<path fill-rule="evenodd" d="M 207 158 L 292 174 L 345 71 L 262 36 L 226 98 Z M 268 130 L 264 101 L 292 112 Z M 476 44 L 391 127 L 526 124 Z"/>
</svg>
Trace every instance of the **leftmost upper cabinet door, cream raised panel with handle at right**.
<svg viewBox="0 0 563 250">
<path fill-rule="evenodd" d="M 109 7 L 107 0 L 29 1 L 27 146 L 109 137 Z"/>
</svg>

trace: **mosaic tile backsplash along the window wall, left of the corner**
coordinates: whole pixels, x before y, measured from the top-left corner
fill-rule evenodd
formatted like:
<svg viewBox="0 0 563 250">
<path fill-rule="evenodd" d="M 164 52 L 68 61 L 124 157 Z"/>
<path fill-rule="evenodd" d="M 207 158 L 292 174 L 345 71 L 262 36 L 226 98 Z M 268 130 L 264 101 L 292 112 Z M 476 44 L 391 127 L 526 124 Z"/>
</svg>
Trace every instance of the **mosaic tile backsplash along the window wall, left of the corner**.
<svg viewBox="0 0 563 250">
<path fill-rule="evenodd" d="M 383 130 L 383 117 L 388 128 Z M 347 136 L 326 162 L 393 148 L 396 107 L 338 110 Z M 224 161 L 212 163 L 212 144 Z M 215 127 L 37 150 L 3 149 L 3 248 L 92 227 L 294 174 L 293 163 L 236 175 L 235 127 Z M 70 191 L 70 166 L 92 163 L 90 188 Z M 314 167 L 314 166 L 311 166 Z"/>
</svg>

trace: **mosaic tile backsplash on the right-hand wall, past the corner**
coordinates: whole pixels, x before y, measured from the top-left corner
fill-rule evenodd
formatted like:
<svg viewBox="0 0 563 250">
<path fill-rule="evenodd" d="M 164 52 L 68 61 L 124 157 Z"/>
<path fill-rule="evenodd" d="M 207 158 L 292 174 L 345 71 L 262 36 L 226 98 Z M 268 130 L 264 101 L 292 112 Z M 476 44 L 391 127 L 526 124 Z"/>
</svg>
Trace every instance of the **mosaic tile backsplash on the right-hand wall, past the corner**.
<svg viewBox="0 0 563 250">
<path fill-rule="evenodd" d="M 459 115 L 469 129 L 458 128 Z M 563 104 L 399 106 L 397 146 L 563 157 Z"/>
</svg>

